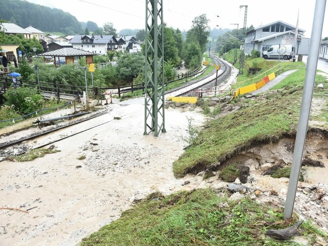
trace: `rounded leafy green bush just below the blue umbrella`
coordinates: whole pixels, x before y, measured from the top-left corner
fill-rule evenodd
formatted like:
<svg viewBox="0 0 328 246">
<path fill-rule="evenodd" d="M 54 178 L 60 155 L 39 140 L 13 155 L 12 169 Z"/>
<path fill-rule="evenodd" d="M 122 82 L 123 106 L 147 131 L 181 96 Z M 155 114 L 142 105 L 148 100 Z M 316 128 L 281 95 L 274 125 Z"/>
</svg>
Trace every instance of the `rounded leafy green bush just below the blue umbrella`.
<svg viewBox="0 0 328 246">
<path fill-rule="evenodd" d="M 36 88 L 18 87 L 9 89 L 4 94 L 5 105 L 12 106 L 16 112 L 22 115 L 42 109 L 45 100 L 37 93 Z"/>
</svg>

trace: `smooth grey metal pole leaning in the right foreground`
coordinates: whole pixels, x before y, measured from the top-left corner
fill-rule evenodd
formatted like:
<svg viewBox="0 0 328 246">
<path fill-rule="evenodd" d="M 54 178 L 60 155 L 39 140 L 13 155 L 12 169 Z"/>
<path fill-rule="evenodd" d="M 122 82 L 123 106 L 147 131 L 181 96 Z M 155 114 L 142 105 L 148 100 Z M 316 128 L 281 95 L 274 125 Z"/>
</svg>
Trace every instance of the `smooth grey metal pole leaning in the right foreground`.
<svg viewBox="0 0 328 246">
<path fill-rule="evenodd" d="M 324 18 L 326 0 L 316 0 L 314 18 L 311 33 L 311 45 L 305 75 L 301 111 L 298 121 L 298 129 L 295 140 L 293 161 L 291 175 L 289 178 L 288 191 L 286 195 L 286 203 L 283 217 L 285 219 L 291 218 L 293 214 L 297 183 L 299 173 L 301 170 L 302 156 L 306 139 L 306 132 L 308 128 L 311 101 L 313 96 L 316 70 L 319 57 L 320 40 L 322 34 L 322 25 Z"/>
</svg>

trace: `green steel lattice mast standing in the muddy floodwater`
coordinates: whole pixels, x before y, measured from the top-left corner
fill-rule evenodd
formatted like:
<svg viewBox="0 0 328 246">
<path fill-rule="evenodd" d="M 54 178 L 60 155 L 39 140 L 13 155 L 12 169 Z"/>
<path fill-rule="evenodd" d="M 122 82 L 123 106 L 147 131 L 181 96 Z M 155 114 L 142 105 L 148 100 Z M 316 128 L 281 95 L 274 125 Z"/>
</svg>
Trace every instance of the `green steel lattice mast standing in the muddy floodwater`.
<svg viewBox="0 0 328 246">
<path fill-rule="evenodd" d="M 165 130 L 162 0 L 146 0 L 145 131 Z"/>
</svg>

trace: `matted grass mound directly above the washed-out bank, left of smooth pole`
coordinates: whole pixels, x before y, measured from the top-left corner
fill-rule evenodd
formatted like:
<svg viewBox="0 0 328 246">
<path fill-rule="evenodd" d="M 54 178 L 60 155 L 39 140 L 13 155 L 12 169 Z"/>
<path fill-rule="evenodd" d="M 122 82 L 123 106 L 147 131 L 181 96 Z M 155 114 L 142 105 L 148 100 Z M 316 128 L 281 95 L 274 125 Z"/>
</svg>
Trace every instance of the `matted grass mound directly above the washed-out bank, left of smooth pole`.
<svg viewBox="0 0 328 246">
<path fill-rule="evenodd" d="M 282 135 L 295 131 L 299 95 L 300 91 L 247 104 L 238 111 L 208 121 L 194 145 L 173 163 L 175 176 L 182 177 L 190 170 L 203 170 L 255 142 L 276 141 Z"/>
</svg>

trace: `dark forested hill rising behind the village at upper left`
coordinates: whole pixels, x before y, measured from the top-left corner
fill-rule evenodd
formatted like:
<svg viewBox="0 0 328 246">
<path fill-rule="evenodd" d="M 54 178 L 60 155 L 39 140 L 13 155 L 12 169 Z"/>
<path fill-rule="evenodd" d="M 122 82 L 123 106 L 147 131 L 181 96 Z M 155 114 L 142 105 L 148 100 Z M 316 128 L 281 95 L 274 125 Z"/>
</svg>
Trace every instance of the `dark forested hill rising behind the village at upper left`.
<svg viewBox="0 0 328 246">
<path fill-rule="evenodd" d="M 20 27 L 32 26 L 40 31 L 62 32 L 67 35 L 82 33 L 76 17 L 60 9 L 32 4 L 22 0 L 0 0 L 0 19 Z"/>
</svg>

